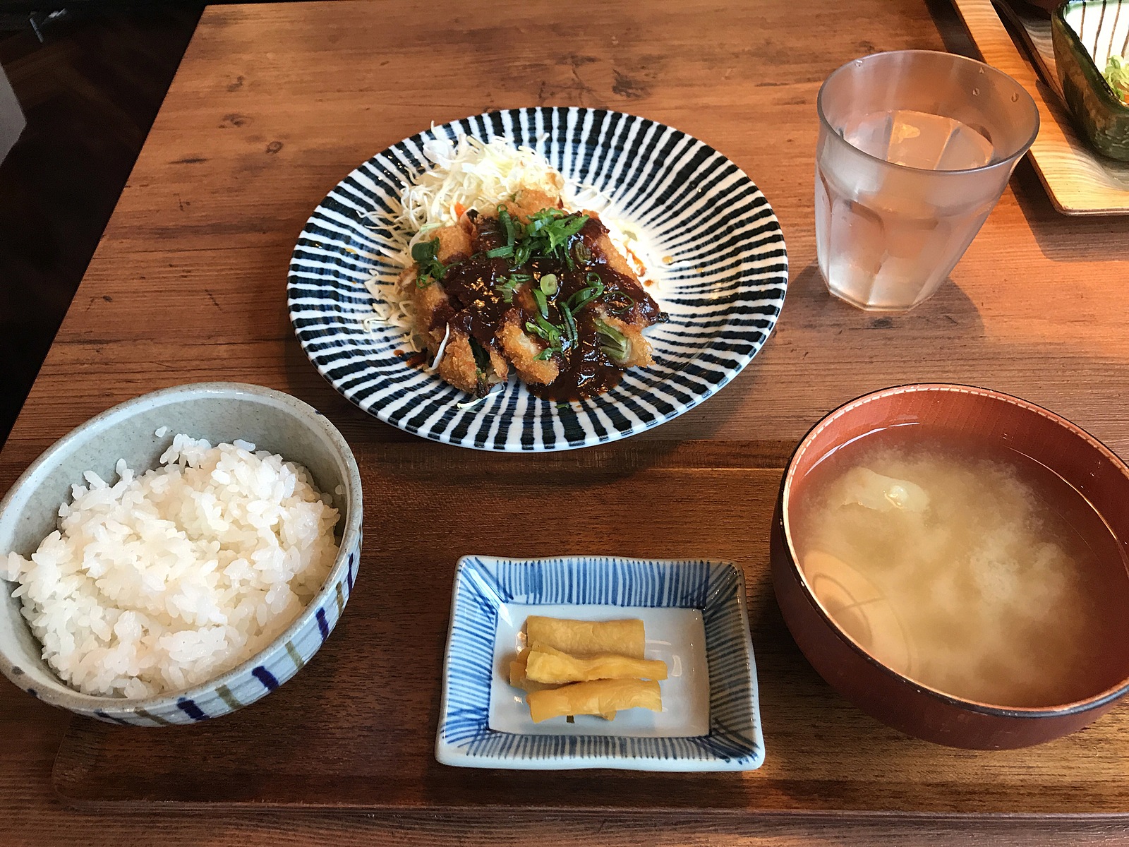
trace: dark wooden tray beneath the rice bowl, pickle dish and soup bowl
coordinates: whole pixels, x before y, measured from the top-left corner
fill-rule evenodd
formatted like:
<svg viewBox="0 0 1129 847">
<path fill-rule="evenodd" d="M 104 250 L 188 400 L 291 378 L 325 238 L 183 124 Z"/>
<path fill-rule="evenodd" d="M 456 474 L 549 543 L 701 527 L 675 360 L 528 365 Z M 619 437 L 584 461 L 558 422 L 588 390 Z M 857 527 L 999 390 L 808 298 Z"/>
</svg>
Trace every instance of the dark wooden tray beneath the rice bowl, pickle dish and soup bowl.
<svg viewBox="0 0 1129 847">
<path fill-rule="evenodd" d="M 364 440 L 360 575 L 316 658 L 277 692 L 213 723 L 143 730 L 76 718 L 54 768 L 63 797 L 499 813 L 1129 812 L 1123 706 L 1040 748 L 970 752 L 877 724 L 812 671 L 780 618 L 768 569 L 788 442 L 631 439 L 506 456 Z M 575 504 L 595 508 L 569 516 Z M 764 766 L 747 774 L 638 774 L 437 763 L 452 576 L 467 552 L 737 562 L 749 586 Z"/>
</svg>

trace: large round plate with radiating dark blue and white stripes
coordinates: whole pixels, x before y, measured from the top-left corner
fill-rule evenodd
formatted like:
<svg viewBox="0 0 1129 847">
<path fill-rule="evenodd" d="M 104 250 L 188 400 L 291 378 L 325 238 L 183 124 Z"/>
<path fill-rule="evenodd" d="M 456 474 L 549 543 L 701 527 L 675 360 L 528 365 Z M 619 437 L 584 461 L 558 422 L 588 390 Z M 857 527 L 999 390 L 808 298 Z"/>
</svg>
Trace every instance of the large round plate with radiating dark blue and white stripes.
<svg viewBox="0 0 1129 847">
<path fill-rule="evenodd" d="M 669 314 L 647 331 L 655 363 L 618 387 L 575 403 L 539 400 L 511 377 L 470 398 L 405 364 L 405 333 L 369 330 L 366 281 L 402 270 L 385 251 L 402 186 L 426 169 L 422 145 L 464 133 L 511 139 L 542 154 L 572 185 L 611 199 L 602 217 L 627 221 L 660 260 L 656 299 Z M 373 217 L 373 212 L 377 215 Z M 295 246 L 290 320 L 317 370 L 349 401 L 408 433 L 462 447 L 552 451 L 625 438 L 693 409 L 756 355 L 788 281 L 780 225 L 764 195 L 725 156 L 645 117 L 597 108 L 490 112 L 412 136 L 347 176 L 314 211 Z"/>
</svg>

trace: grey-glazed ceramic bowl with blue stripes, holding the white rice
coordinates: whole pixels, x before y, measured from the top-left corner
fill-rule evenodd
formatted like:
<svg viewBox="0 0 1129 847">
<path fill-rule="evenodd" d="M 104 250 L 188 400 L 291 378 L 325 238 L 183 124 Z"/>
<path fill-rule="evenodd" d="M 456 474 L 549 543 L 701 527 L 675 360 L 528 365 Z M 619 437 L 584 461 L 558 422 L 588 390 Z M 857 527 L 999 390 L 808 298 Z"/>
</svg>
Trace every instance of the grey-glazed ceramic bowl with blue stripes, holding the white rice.
<svg viewBox="0 0 1129 847">
<path fill-rule="evenodd" d="M 71 486 L 81 482 L 86 471 L 110 479 L 119 460 L 138 470 L 154 468 L 173 446 L 174 434 L 183 431 L 210 442 L 245 438 L 304 465 L 320 491 L 339 491 L 333 499 L 341 512 L 340 548 L 329 562 L 327 576 L 308 579 L 306 590 L 299 592 L 308 601 L 301 597 L 306 602 L 294 610 L 297 615 L 292 622 L 282 631 L 275 627 L 248 643 L 253 655 L 231 656 L 236 666 L 228 667 L 228 662 L 208 674 L 186 674 L 183 684 L 177 684 L 181 680 L 174 673 L 159 686 L 161 693 L 150 689 L 131 697 L 82 693 L 67 686 L 43 661 L 43 647 L 20 613 L 19 599 L 8 599 L 0 603 L 0 672 L 20 688 L 104 721 L 191 723 L 233 711 L 278 688 L 313 656 L 340 619 L 359 560 L 361 491 L 356 462 L 340 433 L 323 416 L 294 398 L 260 386 L 202 383 L 167 388 L 115 407 L 64 436 L 0 501 L 0 550 L 29 557 L 55 529 L 59 504 L 69 501 Z M 186 446 L 182 443 L 180 449 Z M 6 594 L 16 588 L 6 583 L 0 586 L 7 588 Z M 292 599 L 286 604 L 292 606 Z M 200 675 L 208 679 L 200 680 Z M 134 691 L 135 687 L 130 693 Z"/>
</svg>

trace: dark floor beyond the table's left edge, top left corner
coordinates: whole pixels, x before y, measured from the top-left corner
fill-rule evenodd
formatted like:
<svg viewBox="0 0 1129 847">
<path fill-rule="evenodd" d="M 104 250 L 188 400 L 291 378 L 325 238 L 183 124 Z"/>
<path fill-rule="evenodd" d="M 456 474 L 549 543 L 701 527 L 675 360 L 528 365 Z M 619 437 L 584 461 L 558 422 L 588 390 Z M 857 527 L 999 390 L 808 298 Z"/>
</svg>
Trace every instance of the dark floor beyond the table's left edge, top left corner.
<svg viewBox="0 0 1129 847">
<path fill-rule="evenodd" d="M 32 387 L 202 5 L 0 17 L 27 128 L 0 164 L 0 445 Z"/>
</svg>

